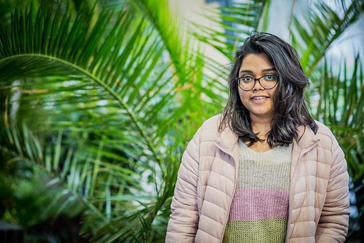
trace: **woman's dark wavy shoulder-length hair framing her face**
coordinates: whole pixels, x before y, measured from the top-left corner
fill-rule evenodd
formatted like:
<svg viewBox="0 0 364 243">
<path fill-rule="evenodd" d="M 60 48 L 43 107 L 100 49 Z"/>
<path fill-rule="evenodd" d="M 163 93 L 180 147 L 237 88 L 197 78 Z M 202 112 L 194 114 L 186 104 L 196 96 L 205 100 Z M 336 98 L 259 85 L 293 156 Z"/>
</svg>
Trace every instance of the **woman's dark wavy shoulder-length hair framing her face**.
<svg viewBox="0 0 364 243">
<path fill-rule="evenodd" d="M 270 122 L 271 130 L 266 134 L 270 148 L 288 146 L 293 138 L 298 142 L 296 127 L 308 125 L 316 134 L 319 128 L 305 104 L 304 89 L 309 87 L 307 76 L 304 74 L 296 50 L 280 37 L 257 32 L 245 39 L 237 50 L 235 61 L 228 78 L 229 100 L 220 113 L 219 131 L 226 126 L 226 121 L 243 142 L 250 141 L 248 146 L 257 141 L 264 141 L 254 133 L 249 110 L 243 105 L 239 96 L 236 81 L 244 57 L 248 54 L 265 54 L 278 71 L 279 79 L 272 102 L 275 108 Z"/>
</svg>

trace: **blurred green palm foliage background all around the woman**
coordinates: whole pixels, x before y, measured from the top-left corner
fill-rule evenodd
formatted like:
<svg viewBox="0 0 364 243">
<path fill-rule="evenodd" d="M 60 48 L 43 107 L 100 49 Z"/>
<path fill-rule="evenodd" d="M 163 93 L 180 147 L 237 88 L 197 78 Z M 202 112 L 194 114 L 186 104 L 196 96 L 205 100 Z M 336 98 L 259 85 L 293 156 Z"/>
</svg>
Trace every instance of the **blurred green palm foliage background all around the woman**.
<svg viewBox="0 0 364 243">
<path fill-rule="evenodd" d="M 298 52 L 364 242 L 364 2 L 0 0 L 0 236 L 164 242 L 181 155 L 252 30 Z"/>
</svg>

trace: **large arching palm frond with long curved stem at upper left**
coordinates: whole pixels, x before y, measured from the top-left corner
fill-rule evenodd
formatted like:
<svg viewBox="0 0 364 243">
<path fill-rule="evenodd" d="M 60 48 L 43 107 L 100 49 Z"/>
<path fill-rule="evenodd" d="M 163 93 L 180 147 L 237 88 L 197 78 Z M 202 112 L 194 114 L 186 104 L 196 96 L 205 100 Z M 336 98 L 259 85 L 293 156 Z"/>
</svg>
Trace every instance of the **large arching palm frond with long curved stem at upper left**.
<svg viewBox="0 0 364 243">
<path fill-rule="evenodd" d="M 153 143 L 145 133 L 145 129 L 142 128 L 138 115 L 132 109 L 132 106 L 134 106 L 132 103 L 135 103 L 136 100 L 139 102 L 138 98 L 140 98 L 135 97 L 135 93 L 139 93 L 139 88 L 146 83 L 152 71 L 152 68 L 148 68 L 144 75 L 140 75 L 144 70 L 136 67 L 143 66 L 148 63 L 148 60 L 155 60 L 156 56 L 158 57 L 161 54 L 161 51 L 157 51 L 161 50 L 158 39 L 154 38 L 151 42 L 148 42 L 152 31 L 144 28 L 144 20 L 137 20 L 139 24 L 134 28 L 132 34 L 128 35 L 127 33 L 130 31 L 125 30 L 130 28 L 132 14 L 130 11 L 120 12 L 116 18 L 114 29 L 108 33 L 109 38 L 104 39 L 104 32 L 100 30 L 107 26 L 104 21 L 110 19 L 110 16 L 112 16 L 110 12 L 104 11 L 101 13 L 95 27 L 90 30 L 88 28 L 90 17 L 83 14 L 78 15 L 71 24 L 71 22 L 67 21 L 71 18 L 69 14 L 65 14 L 61 20 L 60 9 L 55 15 L 52 15 L 50 11 L 47 12 L 44 8 L 40 8 L 34 23 L 32 23 L 31 13 L 30 10 L 28 15 L 14 14 L 14 24 L 10 35 L 7 35 L 8 31 L 2 28 L 0 36 L 0 69 L 4 75 L 2 75 L 0 82 L 6 85 L 10 84 L 11 80 L 24 77 L 50 76 L 62 77 L 63 80 L 60 80 L 62 82 L 64 80 L 73 80 L 74 76 L 79 77 L 81 80 L 77 85 L 66 88 L 69 92 L 79 91 L 82 86 L 85 88 L 89 85 L 89 83 L 84 82 L 85 80 L 94 82 L 94 86 L 103 87 L 104 92 L 118 101 L 119 107 L 126 111 L 129 119 L 138 128 L 157 157 Z M 27 24 L 25 24 L 25 19 L 28 20 Z M 59 31 L 58 34 L 53 33 L 55 29 Z M 88 30 L 89 34 L 87 33 Z M 146 32 L 146 34 L 143 35 L 142 31 Z M 29 36 L 26 36 L 26 33 Z M 113 36 L 114 34 L 116 36 Z M 50 37 L 46 38 L 46 36 Z M 114 41 L 112 42 L 110 39 Z M 118 39 L 118 42 L 116 42 L 116 39 Z M 101 42 L 103 43 L 101 44 Z M 122 44 L 125 45 L 124 48 L 122 48 Z M 99 48 L 92 49 L 91 47 Z M 151 47 L 153 51 L 147 51 Z M 111 54 L 110 49 L 114 49 Z M 122 51 L 122 55 L 118 55 L 120 51 Z M 131 51 L 144 52 L 144 54 L 135 55 L 134 59 L 128 62 L 127 57 Z M 108 61 L 101 63 L 101 60 Z M 151 62 L 152 66 L 156 65 L 155 63 L 155 61 Z M 163 66 L 164 64 L 160 65 Z M 135 71 L 133 71 L 133 68 L 136 68 Z M 124 71 L 124 69 L 126 70 Z M 166 72 L 166 68 L 161 68 L 161 72 Z M 125 78 L 128 75 L 130 75 L 129 78 Z M 137 77 L 140 78 L 138 85 L 135 82 Z M 119 78 L 123 78 L 129 89 L 123 88 L 124 84 L 121 85 Z M 42 82 L 36 85 L 44 86 L 47 84 L 47 81 L 44 82 L 44 80 L 43 78 Z M 130 80 L 133 80 L 135 89 L 127 84 L 130 83 Z M 167 78 L 166 81 L 168 80 Z M 158 81 L 161 82 L 161 80 Z M 61 82 L 59 83 L 60 87 L 62 87 Z M 149 90 L 153 88 L 148 87 Z M 62 87 L 57 92 L 64 92 L 66 89 Z M 50 90 L 54 90 L 54 88 Z M 126 95 L 130 95 L 134 99 L 125 100 L 123 97 L 127 97 Z M 144 118 L 148 123 L 153 122 L 147 119 L 148 116 L 144 116 Z"/>
</svg>

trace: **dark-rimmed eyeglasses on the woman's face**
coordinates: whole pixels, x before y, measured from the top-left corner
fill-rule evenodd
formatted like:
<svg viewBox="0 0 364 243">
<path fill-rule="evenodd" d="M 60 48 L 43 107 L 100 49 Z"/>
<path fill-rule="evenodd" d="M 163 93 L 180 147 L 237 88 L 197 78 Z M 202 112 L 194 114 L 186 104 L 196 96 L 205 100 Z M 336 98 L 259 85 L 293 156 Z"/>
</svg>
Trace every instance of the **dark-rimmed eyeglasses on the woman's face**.
<svg viewBox="0 0 364 243">
<path fill-rule="evenodd" d="M 264 79 L 261 81 L 260 78 L 262 77 L 264 77 Z M 254 78 L 252 76 L 244 76 L 244 77 L 237 77 L 236 80 L 238 82 L 240 89 L 245 91 L 253 89 L 256 81 L 258 81 L 261 87 L 263 87 L 264 89 L 272 89 L 278 83 L 278 75 L 267 74 L 259 78 Z"/>
</svg>

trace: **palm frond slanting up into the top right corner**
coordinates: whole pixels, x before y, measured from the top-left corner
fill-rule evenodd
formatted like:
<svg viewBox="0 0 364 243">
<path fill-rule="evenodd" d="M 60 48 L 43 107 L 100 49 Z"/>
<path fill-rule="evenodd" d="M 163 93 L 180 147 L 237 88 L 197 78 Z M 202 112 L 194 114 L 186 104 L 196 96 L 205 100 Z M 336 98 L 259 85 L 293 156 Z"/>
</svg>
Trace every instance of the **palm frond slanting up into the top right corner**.
<svg viewBox="0 0 364 243">
<path fill-rule="evenodd" d="M 301 57 L 306 75 L 315 70 L 335 40 L 363 15 L 363 11 L 362 1 L 352 1 L 344 13 L 320 2 L 305 12 L 304 21 L 293 17 L 292 45 Z"/>
</svg>

